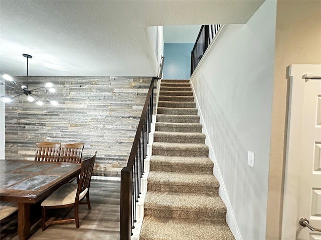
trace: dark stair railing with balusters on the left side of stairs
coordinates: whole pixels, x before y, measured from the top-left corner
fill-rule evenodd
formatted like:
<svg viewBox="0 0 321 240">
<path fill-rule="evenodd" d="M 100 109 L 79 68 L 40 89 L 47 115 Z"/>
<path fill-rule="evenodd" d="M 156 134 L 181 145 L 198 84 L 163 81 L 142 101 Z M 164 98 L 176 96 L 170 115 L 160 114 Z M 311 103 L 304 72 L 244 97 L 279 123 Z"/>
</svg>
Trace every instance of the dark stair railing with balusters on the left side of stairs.
<svg viewBox="0 0 321 240">
<path fill-rule="evenodd" d="M 141 194 L 140 178 L 144 173 L 148 133 L 152 122 L 154 81 L 162 78 L 163 64 L 164 56 L 158 75 L 151 79 L 127 165 L 120 172 L 120 240 L 130 240 L 136 222 L 136 203 Z"/>
</svg>

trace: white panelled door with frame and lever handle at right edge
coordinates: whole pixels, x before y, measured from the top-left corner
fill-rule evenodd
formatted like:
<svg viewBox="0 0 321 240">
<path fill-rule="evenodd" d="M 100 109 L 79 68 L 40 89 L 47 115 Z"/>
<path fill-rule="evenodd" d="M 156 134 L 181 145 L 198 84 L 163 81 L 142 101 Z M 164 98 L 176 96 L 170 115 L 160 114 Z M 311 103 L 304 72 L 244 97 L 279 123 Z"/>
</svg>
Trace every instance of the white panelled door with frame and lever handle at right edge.
<svg viewBox="0 0 321 240">
<path fill-rule="evenodd" d="M 321 232 L 298 222 L 321 228 L 321 65 L 290 65 L 289 78 L 282 239 L 316 240 Z"/>
</svg>

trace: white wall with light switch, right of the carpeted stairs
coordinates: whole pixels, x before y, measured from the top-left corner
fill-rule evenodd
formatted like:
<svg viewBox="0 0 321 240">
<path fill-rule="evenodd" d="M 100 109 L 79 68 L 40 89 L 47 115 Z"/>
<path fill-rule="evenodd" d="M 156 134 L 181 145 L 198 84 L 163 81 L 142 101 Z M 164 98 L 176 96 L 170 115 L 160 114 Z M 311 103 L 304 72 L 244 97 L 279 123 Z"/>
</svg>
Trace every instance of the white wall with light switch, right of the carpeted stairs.
<svg viewBox="0 0 321 240">
<path fill-rule="evenodd" d="M 191 77 L 237 239 L 265 239 L 275 11 L 265 1 L 246 24 L 225 25 Z"/>
</svg>

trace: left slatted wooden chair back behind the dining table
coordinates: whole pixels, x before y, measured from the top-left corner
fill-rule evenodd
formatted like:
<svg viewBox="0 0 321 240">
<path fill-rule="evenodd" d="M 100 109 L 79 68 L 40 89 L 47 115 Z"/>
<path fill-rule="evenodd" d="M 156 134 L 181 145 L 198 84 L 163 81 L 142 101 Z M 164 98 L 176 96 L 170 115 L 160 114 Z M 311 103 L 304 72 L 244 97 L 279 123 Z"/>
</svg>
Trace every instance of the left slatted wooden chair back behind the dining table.
<svg viewBox="0 0 321 240">
<path fill-rule="evenodd" d="M 37 142 L 35 161 L 58 161 L 60 142 Z"/>
</svg>

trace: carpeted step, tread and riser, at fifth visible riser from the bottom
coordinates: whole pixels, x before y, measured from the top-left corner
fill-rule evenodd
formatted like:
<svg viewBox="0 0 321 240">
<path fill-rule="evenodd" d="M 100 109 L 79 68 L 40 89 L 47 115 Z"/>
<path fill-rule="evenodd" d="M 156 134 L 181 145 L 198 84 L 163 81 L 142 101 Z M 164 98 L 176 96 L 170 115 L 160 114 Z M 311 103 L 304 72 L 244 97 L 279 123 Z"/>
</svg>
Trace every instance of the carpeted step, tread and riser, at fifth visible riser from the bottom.
<svg viewBox="0 0 321 240">
<path fill-rule="evenodd" d="M 154 142 L 205 143 L 205 134 L 201 132 L 155 131 Z"/>
</svg>

